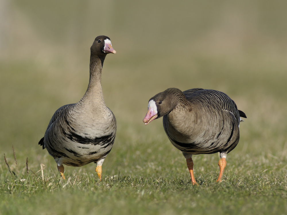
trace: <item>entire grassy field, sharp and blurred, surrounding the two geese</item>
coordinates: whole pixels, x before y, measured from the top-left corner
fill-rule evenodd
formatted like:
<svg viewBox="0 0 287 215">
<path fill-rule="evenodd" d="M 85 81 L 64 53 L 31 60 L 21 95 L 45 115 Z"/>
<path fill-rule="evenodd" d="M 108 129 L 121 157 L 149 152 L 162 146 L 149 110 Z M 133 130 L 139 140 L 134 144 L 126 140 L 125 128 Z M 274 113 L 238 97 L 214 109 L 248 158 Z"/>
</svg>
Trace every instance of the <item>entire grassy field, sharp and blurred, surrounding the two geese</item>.
<svg viewBox="0 0 287 215">
<path fill-rule="evenodd" d="M 287 214 L 285 1 L 1 4 L 0 215 Z M 103 34 L 117 51 L 102 73 L 115 144 L 101 182 L 95 164 L 65 166 L 63 181 L 38 141 L 55 110 L 84 95 Z M 169 87 L 223 91 L 246 113 L 221 183 L 218 154 L 193 156 L 193 186 L 162 120 L 142 122 Z"/>
</svg>

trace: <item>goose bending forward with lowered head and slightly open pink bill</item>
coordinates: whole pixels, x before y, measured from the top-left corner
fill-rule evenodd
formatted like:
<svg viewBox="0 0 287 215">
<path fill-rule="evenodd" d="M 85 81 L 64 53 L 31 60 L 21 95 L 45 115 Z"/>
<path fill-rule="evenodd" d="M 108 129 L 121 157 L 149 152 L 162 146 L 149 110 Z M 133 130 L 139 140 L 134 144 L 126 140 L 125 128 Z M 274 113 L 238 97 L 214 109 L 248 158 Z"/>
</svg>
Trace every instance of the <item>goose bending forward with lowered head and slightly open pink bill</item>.
<svg viewBox="0 0 287 215">
<path fill-rule="evenodd" d="M 162 116 L 170 142 L 186 159 L 193 185 L 197 183 L 191 157 L 197 154 L 220 152 L 217 181 L 221 181 L 226 154 L 239 141 L 239 122 L 243 121 L 240 117 L 247 118 L 234 101 L 216 90 L 196 88 L 182 92 L 169 88 L 149 100 L 144 124 Z"/>
</svg>

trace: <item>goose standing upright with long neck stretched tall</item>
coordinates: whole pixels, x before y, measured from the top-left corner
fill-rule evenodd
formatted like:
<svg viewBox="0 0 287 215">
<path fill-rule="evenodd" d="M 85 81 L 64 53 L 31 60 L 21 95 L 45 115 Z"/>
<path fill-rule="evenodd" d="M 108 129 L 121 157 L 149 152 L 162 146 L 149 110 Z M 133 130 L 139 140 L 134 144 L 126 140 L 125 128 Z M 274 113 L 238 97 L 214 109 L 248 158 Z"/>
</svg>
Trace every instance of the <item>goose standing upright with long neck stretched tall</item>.
<svg viewBox="0 0 287 215">
<path fill-rule="evenodd" d="M 96 173 L 102 179 L 102 163 L 112 149 L 117 127 L 102 94 L 102 66 L 108 53 L 116 53 L 110 38 L 96 37 L 91 46 L 90 82 L 85 95 L 78 103 L 60 107 L 39 141 L 54 157 L 63 179 L 63 164 L 80 167 L 91 162 L 97 164 Z"/>
</svg>

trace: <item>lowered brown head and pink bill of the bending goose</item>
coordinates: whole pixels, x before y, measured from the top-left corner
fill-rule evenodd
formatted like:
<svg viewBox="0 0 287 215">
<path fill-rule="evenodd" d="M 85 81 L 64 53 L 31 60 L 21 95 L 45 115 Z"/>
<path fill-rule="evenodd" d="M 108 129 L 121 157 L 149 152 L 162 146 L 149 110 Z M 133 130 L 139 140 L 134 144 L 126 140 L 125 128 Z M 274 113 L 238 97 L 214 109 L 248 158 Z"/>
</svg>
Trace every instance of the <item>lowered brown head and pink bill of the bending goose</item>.
<svg viewBox="0 0 287 215">
<path fill-rule="evenodd" d="M 167 90 L 156 94 L 148 102 L 148 113 L 144 118 L 144 124 L 149 124 L 152 120 L 169 114 L 181 101 L 184 96 L 182 91 L 177 88 L 168 88 Z"/>
</svg>

